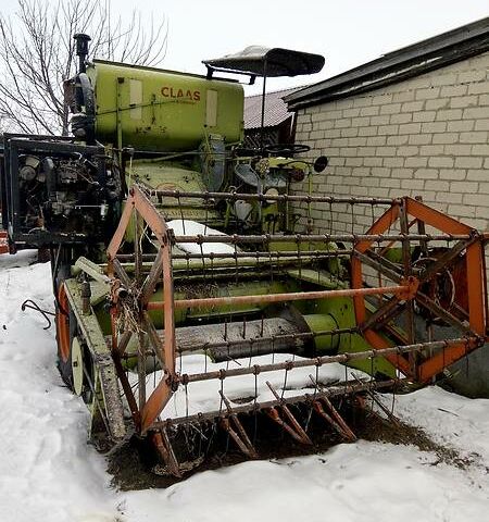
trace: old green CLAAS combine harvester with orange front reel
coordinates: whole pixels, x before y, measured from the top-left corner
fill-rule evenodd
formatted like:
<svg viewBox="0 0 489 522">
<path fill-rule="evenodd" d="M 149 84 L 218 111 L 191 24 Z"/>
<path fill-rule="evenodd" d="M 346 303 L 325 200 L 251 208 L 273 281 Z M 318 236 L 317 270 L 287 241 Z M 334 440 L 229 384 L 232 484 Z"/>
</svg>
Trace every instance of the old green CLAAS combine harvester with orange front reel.
<svg viewBox="0 0 489 522">
<path fill-rule="evenodd" d="M 65 86 L 74 136 L 5 135 L 1 181 L 11 249 L 51 250 L 59 369 L 99 447 L 138 437 L 181 476 L 223 442 L 253 459 L 354 440 L 349 406 L 484 345 L 476 229 L 409 197 L 297 194 L 327 159 L 240 145 L 243 90 L 216 71 L 311 74 L 322 57 L 249 48 L 197 76 L 90 63 L 88 40 Z"/>
</svg>

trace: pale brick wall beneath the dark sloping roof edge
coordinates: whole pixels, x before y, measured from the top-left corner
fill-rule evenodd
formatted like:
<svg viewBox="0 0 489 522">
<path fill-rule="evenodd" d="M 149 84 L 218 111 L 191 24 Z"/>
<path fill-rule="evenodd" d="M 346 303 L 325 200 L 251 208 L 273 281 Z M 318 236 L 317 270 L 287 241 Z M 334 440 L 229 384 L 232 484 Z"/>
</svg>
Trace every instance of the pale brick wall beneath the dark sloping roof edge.
<svg viewBox="0 0 489 522">
<path fill-rule="evenodd" d="M 313 176 L 314 194 L 422 196 L 427 204 L 489 229 L 489 53 L 301 109 L 296 141 L 311 146 L 311 159 L 330 159 L 326 171 Z M 352 228 L 351 210 L 335 208 L 334 215 L 325 206 L 312 210 L 316 231 Z M 353 216 L 353 229 L 371 222 L 363 209 Z"/>
</svg>

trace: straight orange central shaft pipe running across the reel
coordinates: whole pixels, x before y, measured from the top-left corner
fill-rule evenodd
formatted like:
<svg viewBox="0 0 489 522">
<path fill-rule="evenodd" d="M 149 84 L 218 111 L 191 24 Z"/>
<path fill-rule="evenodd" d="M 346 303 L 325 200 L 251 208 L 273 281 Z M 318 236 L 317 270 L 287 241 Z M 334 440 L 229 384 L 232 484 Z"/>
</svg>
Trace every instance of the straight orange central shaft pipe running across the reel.
<svg viewBox="0 0 489 522">
<path fill-rule="evenodd" d="M 378 296 L 408 291 L 409 286 L 385 286 L 381 288 L 346 288 L 341 290 L 296 291 L 286 294 L 265 294 L 256 296 L 205 297 L 198 299 L 178 299 L 175 309 L 213 306 L 263 304 L 271 302 L 302 301 L 305 299 L 334 299 L 337 297 Z M 148 302 L 148 310 L 163 310 L 164 301 Z"/>
</svg>

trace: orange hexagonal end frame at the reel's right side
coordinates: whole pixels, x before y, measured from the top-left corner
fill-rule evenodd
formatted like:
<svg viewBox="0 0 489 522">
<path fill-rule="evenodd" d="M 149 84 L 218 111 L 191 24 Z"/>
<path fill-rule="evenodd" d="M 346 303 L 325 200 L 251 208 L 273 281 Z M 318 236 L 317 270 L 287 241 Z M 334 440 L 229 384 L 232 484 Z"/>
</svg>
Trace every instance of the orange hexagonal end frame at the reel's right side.
<svg viewBox="0 0 489 522">
<path fill-rule="evenodd" d="M 380 272 L 392 278 L 392 281 L 405 281 L 405 277 L 411 276 L 409 259 L 406 259 L 406 252 L 409 251 L 406 245 L 408 240 L 412 237 L 408 235 L 406 223 L 408 215 L 414 217 L 414 221 L 425 225 L 429 225 L 443 234 L 449 236 L 466 236 L 465 239 L 461 239 L 452 250 L 444 254 L 443 259 L 440 259 L 436 265 L 447 265 L 453 260 L 460 252 L 465 250 L 465 273 L 468 289 L 468 323 L 466 327 L 461 321 L 450 314 L 448 311 L 438 307 L 428 296 L 425 296 L 421 291 L 416 291 L 415 295 L 410 296 L 405 300 L 408 306 L 412 306 L 414 299 L 418 299 L 427 308 L 435 310 L 442 319 L 457 327 L 463 334 L 473 338 L 479 338 L 478 343 L 471 343 L 468 346 L 466 343 L 452 344 L 441 349 L 438 353 L 429 357 L 421 363 L 415 364 L 413 358 L 408 360 L 405 357 L 399 355 L 386 356 L 398 370 L 404 375 L 415 378 L 422 383 L 428 382 L 431 377 L 440 373 L 443 368 L 450 365 L 456 360 L 465 357 L 467 352 L 480 346 L 486 337 L 487 331 L 487 288 L 485 270 L 485 257 L 484 257 L 484 241 L 482 235 L 479 235 L 476 229 L 460 223 L 459 221 L 434 210 L 422 202 L 405 197 L 400 202 L 394 202 L 390 209 L 388 209 L 379 220 L 367 231 L 368 235 L 383 235 L 388 231 L 397 221 L 401 220 L 401 232 L 404 238 L 401 238 L 403 244 L 403 274 L 393 273 L 390 270 L 389 264 L 381 266 Z M 404 225 L 403 225 L 404 223 Z M 352 288 L 363 288 L 362 281 L 362 263 L 373 264 L 374 260 L 367 257 L 374 240 L 361 239 L 354 246 L 356 253 L 353 254 L 351 260 L 351 286 Z M 381 264 L 376 257 L 376 268 Z M 422 283 L 428 281 L 436 274 L 436 268 L 427 270 L 418 279 L 418 287 Z M 411 276 L 412 277 L 412 276 Z M 400 294 L 393 295 L 393 297 L 383 307 L 380 307 L 374 314 L 367 316 L 366 306 L 364 297 L 361 295 L 353 296 L 353 303 L 355 310 L 356 324 L 360 326 L 361 333 L 366 340 L 376 349 L 385 349 L 390 346 L 385 337 L 380 336 L 373 326 L 383 316 L 391 316 L 392 313 L 399 313 L 403 308 L 400 303 Z M 408 341 L 413 341 L 409 338 Z"/>
</svg>

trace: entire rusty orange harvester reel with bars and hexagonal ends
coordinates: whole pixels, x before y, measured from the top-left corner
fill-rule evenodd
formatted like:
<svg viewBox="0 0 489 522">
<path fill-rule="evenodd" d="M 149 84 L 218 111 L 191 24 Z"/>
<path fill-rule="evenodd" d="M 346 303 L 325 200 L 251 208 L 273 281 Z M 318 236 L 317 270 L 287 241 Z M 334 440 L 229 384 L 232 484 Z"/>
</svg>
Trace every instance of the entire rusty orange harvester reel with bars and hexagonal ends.
<svg viewBox="0 0 489 522">
<path fill-rule="evenodd" d="M 484 240 L 481 236 L 477 235 L 476 231 L 463 225 L 451 217 L 424 206 L 423 203 L 415 201 L 411 198 L 401 199 L 386 199 L 377 200 L 372 198 L 328 198 L 328 197 L 283 197 L 277 196 L 277 201 L 306 201 L 306 202 L 341 202 L 341 203 L 364 203 L 364 204 L 390 204 L 389 209 L 374 223 L 374 225 L 367 231 L 366 234 L 323 234 L 323 235 L 231 235 L 231 236 L 174 236 L 168 229 L 165 220 L 160 214 L 158 208 L 151 201 L 151 197 L 156 196 L 159 199 L 163 197 L 177 198 L 191 197 L 209 201 L 211 199 L 247 199 L 247 200 L 260 200 L 263 195 L 239 195 L 236 192 L 221 194 L 221 192 L 178 192 L 178 191 L 149 191 L 140 186 L 134 186 L 130 190 L 129 197 L 126 201 L 120 224 L 114 233 L 114 236 L 108 247 L 108 274 L 111 281 L 111 298 L 112 298 L 112 325 L 113 325 L 113 338 L 112 338 L 112 355 L 115 361 L 115 368 L 120 376 L 122 386 L 127 396 L 129 408 L 131 410 L 133 419 L 138 432 L 142 435 L 149 434 L 153 440 L 158 451 L 166 462 L 167 469 L 173 474 L 180 476 L 181 469 L 178 463 L 172 448 L 166 428 L 171 426 L 177 426 L 179 424 L 200 423 L 205 420 L 212 420 L 216 422 L 225 432 L 227 432 L 230 439 L 237 445 L 237 447 L 249 458 L 256 458 L 256 450 L 251 443 L 248 434 L 244 431 L 243 425 L 239 419 L 239 414 L 242 413 L 256 413 L 256 411 L 264 412 L 272 419 L 273 422 L 278 424 L 285 432 L 287 432 L 294 440 L 304 444 L 313 444 L 306 431 L 308 427 L 301 426 L 298 420 L 294 418 L 289 406 L 304 402 L 311 407 L 311 412 L 315 411 L 322 419 L 326 420 L 333 427 L 346 439 L 354 440 L 355 435 L 351 428 L 347 425 L 339 412 L 335 409 L 334 405 L 329 401 L 329 397 L 337 395 L 349 395 L 358 393 L 368 393 L 374 389 L 381 389 L 393 385 L 399 385 L 402 382 L 410 384 L 412 382 L 427 382 L 432 375 L 436 375 L 440 370 L 450 362 L 464 357 L 466 353 L 480 346 L 485 339 L 486 334 L 486 316 L 487 316 L 487 298 L 486 298 L 486 284 L 484 276 Z M 412 217 L 412 219 L 411 219 Z M 136 223 L 136 241 L 139 234 L 138 223 L 141 221 L 145 223 L 151 233 L 155 237 L 155 244 L 158 246 L 158 252 L 155 254 L 143 254 L 139 246 L 135 247 L 134 254 L 121 253 L 120 249 L 123 244 L 126 231 L 131 223 L 131 220 Z M 411 221 L 410 221 L 411 220 Z M 390 227 L 396 223 L 400 223 L 401 233 L 391 234 Z M 418 233 L 410 233 L 410 228 L 417 223 Z M 426 234 L 425 225 L 429 225 L 440 234 Z M 448 244 L 452 244 L 452 249 L 443 254 L 435 264 L 425 272 L 416 274 L 411 268 L 410 260 L 410 241 L 419 241 L 422 245 L 427 245 L 431 240 L 444 240 Z M 291 291 L 281 294 L 265 294 L 265 295 L 243 295 L 243 296 L 229 296 L 229 297 L 204 297 L 195 299 L 177 299 L 175 300 L 174 287 L 173 287 L 173 272 L 172 272 L 172 247 L 179 243 L 195 243 L 197 245 L 203 245 L 206 243 L 226 243 L 237 247 L 238 245 L 248 245 L 253 251 L 250 252 L 237 252 L 235 253 L 221 253 L 221 254 L 204 254 L 201 249 L 201 254 L 176 254 L 175 259 L 235 259 L 236 265 L 238 265 L 238 258 L 246 257 L 259 257 L 262 256 L 266 259 L 272 259 L 274 253 L 261 252 L 259 249 L 271 245 L 274 241 L 293 241 L 298 245 L 298 258 L 306 256 L 319 257 L 337 257 L 338 252 L 323 252 L 317 251 L 301 251 L 300 245 L 302 241 L 308 243 L 335 243 L 342 241 L 352 246 L 351 250 L 341 250 L 341 254 L 348 254 L 351 252 L 351 266 L 352 266 L 352 279 L 351 288 L 330 289 L 330 290 L 316 290 L 316 291 Z M 390 243 L 389 243 L 390 241 Z M 392 263 L 372 247 L 376 245 L 393 245 L 396 241 L 402 244 L 402 264 L 399 268 L 398 264 Z M 253 248 L 253 245 L 256 245 Z M 465 253 L 465 269 L 467 277 L 467 288 L 469 291 L 468 298 L 468 326 L 465 326 L 462 321 L 452 315 L 449 311 L 441 310 L 435 302 L 431 302 L 429 296 L 424 295 L 421 291 L 421 284 L 426 281 L 430 281 L 436 276 L 438 266 L 446 266 L 453 262 L 460 254 Z M 292 257 L 287 252 L 277 254 Z M 131 278 L 126 272 L 125 266 L 121 263 L 121 260 L 127 259 L 135 263 L 135 278 Z M 142 261 L 148 262 L 142 271 Z M 390 286 L 381 286 L 371 288 L 365 287 L 362 281 L 362 266 L 368 264 L 378 274 L 383 274 L 387 278 L 390 278 L 393 284 Z M 149 266 L 149 270 L 148 270 Z M 145 274 L 145 278 L 143 278 Z M 153 295 L 154 288 L 159 284 L 163 284 L 163 300 L 154 301 L 150 300 Z M 146 395 L 139 394 L 139 403 L 136 400 L 127 376 L 124 374 L 121 364 L 121 358 L 124 357 L 125 349 L 130 340 L 130 332 L 124 332 L 123 335 L 117 338 L 116 335 L 116 320 L 120 313 L 121 307 L 127 306 L 124 301 L 124 297 L 120 296 L 121 293 L 133 293 L 131 295 L 137 299 L 138 306 L 138 324 L 143 330 L 145 334 L 141 336 L 138 332 L 140 353 L 139 363 L 146 358 L 147 348 L 151 352 L 155 353 L 159 362 L 164 371 L 164 375 L 158 383 L 152 394 L 146 398 Z M 379 309 L 367 314 L 365 307 L 365 298 L 367 296 L 379 296 L 380 307 Z M 387 297 L 387 302 L 383 303 L 381 296 Z M 175 311 L 188 308 L 199 307 L 237 307 L 243 304 L 264 304 L 264 303 L 279 303 L 287 301 L 299 300 L 312 300 L 312 299 L 328 299 L 339 297 L 351 297 L 354 304 L 354 313 L 356 320 L 356 326 L 354 328 L 343 328 L 344 332 L 354 332 L 362 334 L 369 345 L 372 350 L 338 353 L 335 356 L 317 357 L 315 359 L 299 359 L 292 361 L 285 361 L 278 363 L 263 364 L 261 366 L 239 366 L 229 370 L 208 371 L 204 373 L 179 374 L 176 371 L 176 337 L 175 337 Z M 447 339 L 439 341 L 426 341 L 416 343 L 414 338 L 413 328 L 408 331 L 405 338 L 399 336 L 394 338 L 399 339 L 397 346 L 392 346 L 392 341 L 388 341 L 377 331 L 376 325 L 381 323 L 387 325 L 388 318 L 394 316 L 403 308 L 408 309 L 408 313 L 414 314 L 414 300 L 419 300 L 421 303 L 435 310 L 442 319 L 448 321 L 461 331 L 461 335 L 455 339 Z M 164 333 L 161 335 L 154 327 L 154 324 L 149 314 L 150 311 L 156 311 L 163 313 L 163 326 Z M 388 326 L 388 325 L 387 325 Z M 338 335 L 342 331 L 328 332 L 331 335 Z M 301 336 L 311 335 L 325 335 L 325 333 L 297 333 L 285 334 L 284 338 L 291 337 L 293 339 L 301 338 Z M 279 338 L 280 335 L 274 336 L 272 343 Z M 269 338 L 263 337 L 261 340 L 269 341 Z M 244 339 L 247 341 L 247 339 Z M 250 344 L 254 339 L 250 339 Z M 229 347 L 233 345 L 233 340 L 225 340 L 224 343 L 210 343 L 205 345 L 205 349 L 215 346 Z M 236 341 L 238 343 L 238 341 Z M 239 340 L 243 343 L 243 340 Z M 425 358 L 427 352 L 435 352 L 429 359 Z M 227 397 L 224 395 L 223 388 L 221 388 L 222 405 L 225 405 L 224 411 L 222 408 L 220 411 L 198 413 L 196 415 L 189 415 L 188 412 L 185 418 L 168 419 L 162 421 L 160 419 L 161 412 L 165 408 L 170 398 L 178 389 L 179 386 L 187 387 L 191 383 L 220 380 L 223 382 L 227 377 L 234 377 L 239 375 L 258 375 L 259 373 L 286 371 L 289 372 L 294 368 L 305 366 L 321 366 L 333 362 L 351 363 L 355 360 L 385 358 L 393 364 L 394 368 L 400 370 L 405 375 L 405 380 L 400 377 L 392 378 L 386 382 L 358 382 L 356 384 L 342 383 L 341 386 L 323 387 L 319 383 L 314 381 L 312 375 L 310 378 L 315 384 L 314 396 L 309 394 L 293 396 L 293 397 L 280 397 L 278 391 L 267 381 L 266 385 L 271 389 L 274 398 L 273 400 L 259 403 L 256 398 L 253 402 L 244 406 L 235 406 L 230 403 Z M 146 371 L 139 371 L 139 383 L 141 378 L 146 377 Z"/>
</svg>

